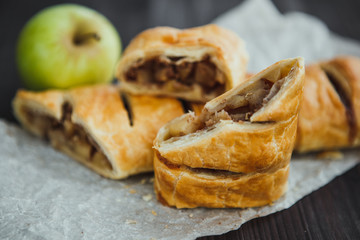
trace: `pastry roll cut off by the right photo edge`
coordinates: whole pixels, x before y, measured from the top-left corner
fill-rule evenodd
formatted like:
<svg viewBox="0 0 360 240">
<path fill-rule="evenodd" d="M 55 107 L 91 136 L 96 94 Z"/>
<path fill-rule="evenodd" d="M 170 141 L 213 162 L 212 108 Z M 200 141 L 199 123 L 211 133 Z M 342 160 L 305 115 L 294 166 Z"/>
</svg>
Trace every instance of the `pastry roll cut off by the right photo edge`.
<svg viewBox="0 0 360 240">
<path fill-rule="evenodd" d="M 295 149 L 360 145 L 360 59 L 343 56 L 306 67 Z"/>
</svg>

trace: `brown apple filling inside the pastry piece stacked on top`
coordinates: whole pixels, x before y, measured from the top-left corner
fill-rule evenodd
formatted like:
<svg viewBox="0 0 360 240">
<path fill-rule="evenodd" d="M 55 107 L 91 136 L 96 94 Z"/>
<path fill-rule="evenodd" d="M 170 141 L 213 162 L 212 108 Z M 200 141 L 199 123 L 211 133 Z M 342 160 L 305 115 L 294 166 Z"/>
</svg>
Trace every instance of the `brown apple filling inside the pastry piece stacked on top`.
<svg viewBox="0 0 360 240">
<path fill-rule="evenodd" d="M 216 96 L 225 91 L 225 75 L 209 56 L 197 62 L 185 57 L 158 56 L 133 64 L 125 80 L 142 85 L 151 84 L 171 92 L 191 91 L 199 86 L 203 93 Z"/>
</svg>

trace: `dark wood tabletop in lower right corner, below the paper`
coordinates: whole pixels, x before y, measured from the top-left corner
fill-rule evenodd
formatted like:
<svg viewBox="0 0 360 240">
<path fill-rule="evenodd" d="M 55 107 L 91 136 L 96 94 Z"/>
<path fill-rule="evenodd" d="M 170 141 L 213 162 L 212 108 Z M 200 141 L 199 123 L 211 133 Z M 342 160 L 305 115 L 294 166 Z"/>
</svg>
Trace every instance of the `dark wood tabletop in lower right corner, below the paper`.
<svg viewBox="0 0 360 240">
<path fill-rule="evenodd" d="M 289 209 L 198 239 L 360 239 L 360 164 Z"/>
</svg>

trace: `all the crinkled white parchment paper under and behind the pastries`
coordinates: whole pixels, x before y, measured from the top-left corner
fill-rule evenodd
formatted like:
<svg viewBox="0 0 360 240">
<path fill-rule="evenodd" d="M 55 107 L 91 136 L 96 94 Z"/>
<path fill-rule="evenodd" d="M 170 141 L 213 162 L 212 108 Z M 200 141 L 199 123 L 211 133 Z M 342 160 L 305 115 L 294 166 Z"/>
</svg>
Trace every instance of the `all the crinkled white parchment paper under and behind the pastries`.
<svg viewBox="0 0 360 240">
<path fill-rule="evenodd" d="M 330 33 L 301 13 L 281 15 L 266 0 L 247 1 L 216 23 L 247 42 L 250 71 L 287 57 L 307 62 L 337 54 L 360 56 L 360 44 Z M 341 160 L 294 156 L 289 191 L 272 206 L 176 210 L 154 196 L 152 174 L 104 179 L 13 124 L 0 120 L 1 239 L 194 239 L 237 229 L 286 209 L 359 163 L 360 150 Z"/>
</svg>

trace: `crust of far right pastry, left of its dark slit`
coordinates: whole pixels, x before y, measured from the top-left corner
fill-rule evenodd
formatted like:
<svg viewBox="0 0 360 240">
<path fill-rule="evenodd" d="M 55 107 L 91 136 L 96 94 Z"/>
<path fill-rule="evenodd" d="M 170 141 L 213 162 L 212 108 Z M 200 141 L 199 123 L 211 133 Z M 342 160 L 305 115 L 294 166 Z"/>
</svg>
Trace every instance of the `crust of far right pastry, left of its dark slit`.
<svg viewBox="0 0 360 240">
<path fill-rule="evenodd" d="M 296 150 L 305 152 L 348 144 L 346 109 L 317 64 L 306 67 Z"/>
</svg>

